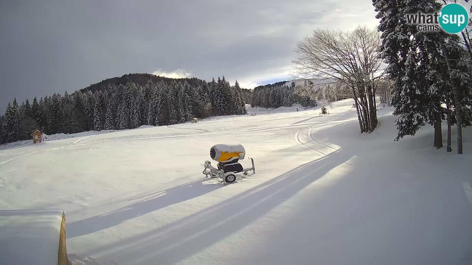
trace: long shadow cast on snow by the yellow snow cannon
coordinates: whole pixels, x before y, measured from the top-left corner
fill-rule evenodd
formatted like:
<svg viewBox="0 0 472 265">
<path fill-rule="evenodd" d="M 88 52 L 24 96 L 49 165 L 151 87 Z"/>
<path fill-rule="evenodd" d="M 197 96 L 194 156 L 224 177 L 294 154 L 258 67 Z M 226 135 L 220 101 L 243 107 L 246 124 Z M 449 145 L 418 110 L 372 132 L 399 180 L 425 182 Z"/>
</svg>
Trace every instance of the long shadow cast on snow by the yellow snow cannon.
<svg viewBox="0 0 472 265">
<path fill-rule="evenodd" d="M 121 207 L 103 215 L 96 215 L 67 224 L 67 237 L 76 237 L 97 232 L 160 208 L 199 197 L 222 186 L 203 185 L 202 182 L 207 180 L 207 178 L 202 178 L 167 190 L 160 190 L 140 198 L 132 199 L 138 201 L 126 207 Z"/>
</svg>

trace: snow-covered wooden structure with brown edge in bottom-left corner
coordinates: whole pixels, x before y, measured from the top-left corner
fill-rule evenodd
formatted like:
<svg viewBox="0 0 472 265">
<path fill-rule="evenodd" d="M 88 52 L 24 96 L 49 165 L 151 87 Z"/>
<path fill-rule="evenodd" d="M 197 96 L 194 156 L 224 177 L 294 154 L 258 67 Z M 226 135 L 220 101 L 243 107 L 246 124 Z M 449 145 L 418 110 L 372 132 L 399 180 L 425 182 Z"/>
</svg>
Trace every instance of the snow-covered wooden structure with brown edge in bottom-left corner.
<svg viewBox="0 0 472 265">
<path fill-rule="evenodd" d="M 71 265 L 61 210 L 0 211 L 0 264 Z"/>
</svg>

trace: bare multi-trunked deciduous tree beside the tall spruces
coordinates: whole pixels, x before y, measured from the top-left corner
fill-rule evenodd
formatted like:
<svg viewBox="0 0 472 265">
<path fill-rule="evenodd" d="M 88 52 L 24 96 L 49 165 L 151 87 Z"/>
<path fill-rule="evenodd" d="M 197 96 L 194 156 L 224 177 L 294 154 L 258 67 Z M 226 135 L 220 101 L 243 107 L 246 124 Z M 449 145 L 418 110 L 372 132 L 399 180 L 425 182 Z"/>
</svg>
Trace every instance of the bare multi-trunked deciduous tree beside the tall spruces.
<svg viewBox="0 0 472 265">
<path fill-rule="evenodd" d="M 298 42 L 294 72 L 302 78 L 334 79 L 349 89 L 362 132 L 377 127 L 375 93 L 385 75 L 379 59 L 380 35 L 358 26 L 353 32 L 316 29 Z"/>
</svg>

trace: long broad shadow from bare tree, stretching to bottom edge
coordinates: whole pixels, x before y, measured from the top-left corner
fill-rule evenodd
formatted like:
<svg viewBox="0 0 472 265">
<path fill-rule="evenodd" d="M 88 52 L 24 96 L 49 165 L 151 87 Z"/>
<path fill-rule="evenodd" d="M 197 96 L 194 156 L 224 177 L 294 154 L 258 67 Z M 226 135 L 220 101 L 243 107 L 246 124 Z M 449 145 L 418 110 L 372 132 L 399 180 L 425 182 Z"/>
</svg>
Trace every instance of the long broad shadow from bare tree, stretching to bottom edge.
<svg viewBox="0 0 472 265">
<path fill-rule="evenodd" d="M 253 223 L 353 155 L 339 149 L 194 215 L 96 248 L 91 256 L 122 264 L 174 264 Z"/>
</svg>

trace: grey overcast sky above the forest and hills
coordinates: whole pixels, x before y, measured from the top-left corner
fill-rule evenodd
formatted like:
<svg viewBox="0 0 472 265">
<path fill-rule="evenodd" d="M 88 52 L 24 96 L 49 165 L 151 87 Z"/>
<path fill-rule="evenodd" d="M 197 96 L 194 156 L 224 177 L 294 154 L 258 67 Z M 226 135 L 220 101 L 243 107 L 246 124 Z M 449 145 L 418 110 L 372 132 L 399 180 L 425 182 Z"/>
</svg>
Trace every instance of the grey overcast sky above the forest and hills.
<svg viewBox="0 0 472 265">
<path fill-rule="evenodd" d="M 303 35 L 375 15 L 371 0 L 2 0 L 0 109 L 128 73 L 287 80 Z"/>
</svg>

